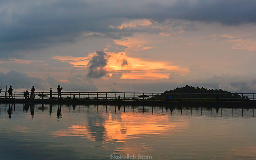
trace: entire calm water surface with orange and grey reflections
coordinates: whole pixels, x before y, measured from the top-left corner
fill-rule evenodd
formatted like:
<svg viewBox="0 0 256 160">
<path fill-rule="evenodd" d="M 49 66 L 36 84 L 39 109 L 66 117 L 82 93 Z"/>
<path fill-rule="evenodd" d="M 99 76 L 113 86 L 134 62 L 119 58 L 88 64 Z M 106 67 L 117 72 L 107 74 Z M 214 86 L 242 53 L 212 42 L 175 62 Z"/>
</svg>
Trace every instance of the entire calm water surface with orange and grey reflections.
<svg viewBox="0 0 256 160">
<path fill-rule="evenodd" d="M 254 110 L 0 104 L 0 160 L 256 160 Z"/>
</svg>

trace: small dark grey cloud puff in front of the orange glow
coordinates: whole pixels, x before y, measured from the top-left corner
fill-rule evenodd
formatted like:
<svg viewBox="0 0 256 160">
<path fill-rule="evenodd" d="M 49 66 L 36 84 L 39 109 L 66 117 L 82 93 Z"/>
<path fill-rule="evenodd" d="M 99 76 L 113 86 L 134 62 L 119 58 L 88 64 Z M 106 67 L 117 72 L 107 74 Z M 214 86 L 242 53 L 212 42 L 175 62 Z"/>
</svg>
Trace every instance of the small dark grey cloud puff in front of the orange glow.
<svg viewBox="0 0 256 160">
<path fill-rule="evenodd" d="M 87 74 L 90 78 L 100 78 L 106 74 L 104 68 L 108 62 L 108 55 L 104 51 L 97 51 L 96 55 L 92 57 L 89 62 L 89 72 Z"/>
</svg>

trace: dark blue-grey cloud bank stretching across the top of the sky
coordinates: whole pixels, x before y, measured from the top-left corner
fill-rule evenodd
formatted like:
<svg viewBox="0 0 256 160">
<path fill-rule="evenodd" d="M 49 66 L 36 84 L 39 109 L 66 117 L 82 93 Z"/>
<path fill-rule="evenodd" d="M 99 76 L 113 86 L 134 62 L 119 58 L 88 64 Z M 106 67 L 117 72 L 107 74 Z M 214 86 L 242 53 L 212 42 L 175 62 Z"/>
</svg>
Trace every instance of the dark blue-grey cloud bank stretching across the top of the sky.
<svg viewBox="0 0 256 160">
<path fill-rule="evenodd" d="M 255 0 L 3 0 L 0 4 L 2 54 L 74 42 L 81 32 L 103 33 L 114 39 L 132 36 L 132 32 L 150 32 L 110 27 L 127 19 L 183 19 L 227 25 L 256 22 Z"/>
</svg>

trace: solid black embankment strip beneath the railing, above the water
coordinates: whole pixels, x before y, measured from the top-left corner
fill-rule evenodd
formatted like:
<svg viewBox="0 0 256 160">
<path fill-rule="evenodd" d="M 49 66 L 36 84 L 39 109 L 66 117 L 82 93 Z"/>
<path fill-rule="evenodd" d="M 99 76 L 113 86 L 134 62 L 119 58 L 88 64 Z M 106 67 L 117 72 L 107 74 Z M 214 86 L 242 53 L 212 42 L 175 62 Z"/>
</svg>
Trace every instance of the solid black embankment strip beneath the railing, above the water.
<svg viewBox="0 0 256 160">
<path fill-rule="evenodd" d="M 256 101 L 158 101 L 158 100 L 20 100 L 0 99 L 0 103 L 34 103 L 34 104 L 81 104 L 81 105 L 115 105 L 115 106 L 178 106 L 178 107 L 250 107 L 256 108 Z"/>
</svg>

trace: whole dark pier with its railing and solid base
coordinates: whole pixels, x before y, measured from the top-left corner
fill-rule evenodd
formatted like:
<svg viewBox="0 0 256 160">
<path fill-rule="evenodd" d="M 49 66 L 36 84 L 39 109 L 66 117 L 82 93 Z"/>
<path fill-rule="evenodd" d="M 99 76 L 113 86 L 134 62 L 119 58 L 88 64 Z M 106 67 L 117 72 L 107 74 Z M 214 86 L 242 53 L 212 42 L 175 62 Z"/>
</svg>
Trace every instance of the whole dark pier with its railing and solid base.
<svg viewBox="0 0 256 160">
<path fill-rule="evenodd" d="M 0 103 L 42 104 L 96 104 L 132 106 L 195 106 L 195 107 L 252 107 L 256 108 L 254 93 L 204 94 L 204 93 L 149 93 L 149 92 L 35 92 L 34 99 L 25 99 L 23 92 L 0 93 Z"/>
</svg>

